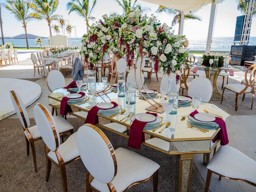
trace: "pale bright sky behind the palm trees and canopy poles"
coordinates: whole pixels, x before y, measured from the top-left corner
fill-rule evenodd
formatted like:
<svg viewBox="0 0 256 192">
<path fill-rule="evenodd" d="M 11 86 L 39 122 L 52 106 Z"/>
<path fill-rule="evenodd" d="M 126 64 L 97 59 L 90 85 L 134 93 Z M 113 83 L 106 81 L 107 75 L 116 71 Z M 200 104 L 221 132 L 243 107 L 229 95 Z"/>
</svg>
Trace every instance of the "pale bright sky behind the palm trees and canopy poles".
<svg viewBox="0 0 256 192">
<path fill-rule="evenodd" d="M 182 1 L 182 0 L 181 0 Z M 5 2 L 0 0 L 0 2 Z M 76 26 L 77 37 L 82 37 L 86 33 L 86 24 L 83 18 L 79 17 L 76 13 L 71 13 L 68 15 L 66 10 L 66 4 L 68 0 L 59 0 L 59 6 L 56 14 L 63 16 L 65 20 L 69 20 L 72 26 Z M 92 1 L 91 1 L 92 2 Z M 157 2 L 157 0 L 156 0 Z M 158 8 L 156 4 L 150 4 L 138 0 L 138 3 L 142 6 L 150 7 L 151 10 L 146 14 L 155 14 L 162 23 L 166 23 L 171 26 L 173 16 L 169 16 L 165 13 L 156 14 L 155 11 Z M 237 4 L 235 0 L 224 0 L 221 4 L 218 4 L 217 14 L 214 26 L 214 37 L 233 37 L 236 25 L 236 17 L 242 15 L 237 10 Z M 186 20 L 184 26 L 184 34 L 190 39 L 202 39 L 207 37 L 209 18 L 210 18 L 211 5 L 208 4 L 196 12 L 198 16 L 202 18 L 202 21 L 196 20 Z M 100 19 L 104 14 L 110 14 L 112 12 L 122 13 L 122 8 L 116 3 L 115 0 L 97 0 L 96 7 L 92 12 L 92 16 L 96 19 Z M 3 30 L 4 36 L 16 36 L 24 33 L 24 28 L 22 24 L 15 20 L 14 16 L 10 14 L 5 8 L 2 8 L 2 20 L 3 20 Z M 58 24 L 58 22 L 53 22 L 52 24 Z M 90 22 L 92 24 L 93 22 Z M 175 32 L 178 32 L 178 25 L 173 28 Z M 49 28 L 46 21 L 36 21 L 32 20 L 27 25 L 27 32 L 29 34 L 34 34 L 38 36 L 49 36 Z M 52 33 L 53 30 L 52 30 Z M 256 36 L 256 19 L 252 20 L 251 36 Z M 72 33 L 72 37 L 74 33 Z"/>
</svg>

